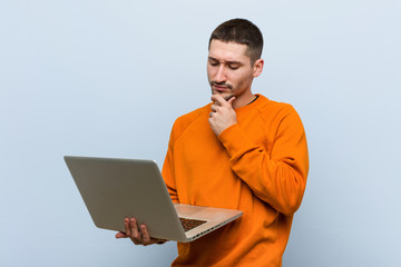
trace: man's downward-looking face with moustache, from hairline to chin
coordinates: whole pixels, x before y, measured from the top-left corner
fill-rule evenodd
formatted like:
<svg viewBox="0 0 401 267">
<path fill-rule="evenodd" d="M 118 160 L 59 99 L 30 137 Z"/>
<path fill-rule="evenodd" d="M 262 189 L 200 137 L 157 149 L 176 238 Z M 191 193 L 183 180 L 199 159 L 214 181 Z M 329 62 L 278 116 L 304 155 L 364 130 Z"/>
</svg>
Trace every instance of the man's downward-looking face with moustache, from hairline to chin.
<svg viewBox="0 0 401 267">
<path fill-rule="evenodd" d="M 212 93 L 236 101 L 252 95 L 254 68 L 246 56 L 246 44 L 212 40 L 207 59 L 207 78 Z"/>
</svg>

